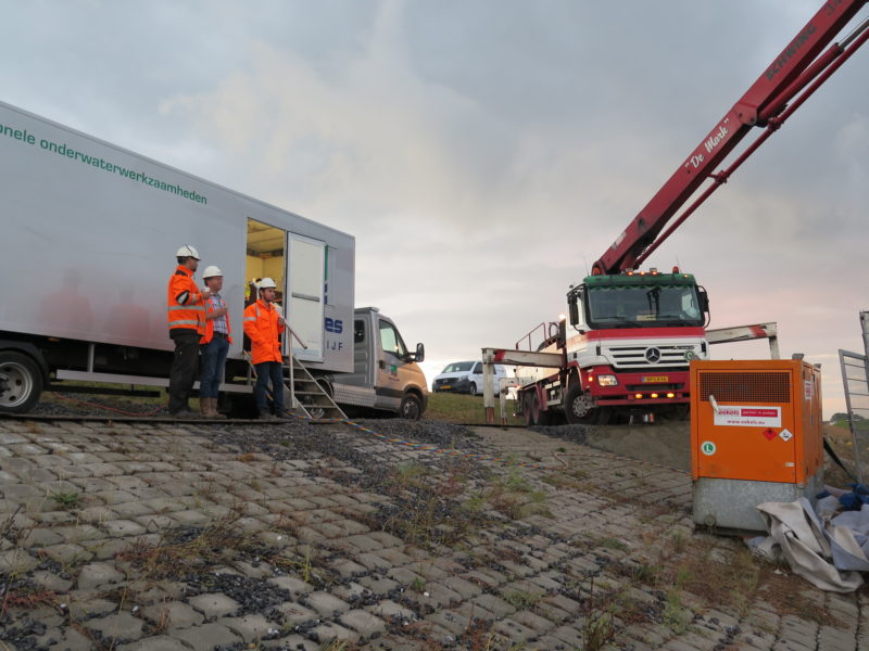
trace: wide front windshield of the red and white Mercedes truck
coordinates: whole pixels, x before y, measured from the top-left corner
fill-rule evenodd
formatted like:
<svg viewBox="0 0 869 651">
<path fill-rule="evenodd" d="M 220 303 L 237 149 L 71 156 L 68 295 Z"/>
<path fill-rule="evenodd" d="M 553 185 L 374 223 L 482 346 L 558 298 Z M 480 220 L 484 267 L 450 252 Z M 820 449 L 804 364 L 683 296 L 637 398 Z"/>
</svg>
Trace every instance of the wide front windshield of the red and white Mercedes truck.
<svg viewBox="0 0 869 651">
<path fill-rule="evenodd" d="M 587 288 L 589 326 L 662 328 L 703 326 L 693 284 L 631 284 Z"/>
</svg>

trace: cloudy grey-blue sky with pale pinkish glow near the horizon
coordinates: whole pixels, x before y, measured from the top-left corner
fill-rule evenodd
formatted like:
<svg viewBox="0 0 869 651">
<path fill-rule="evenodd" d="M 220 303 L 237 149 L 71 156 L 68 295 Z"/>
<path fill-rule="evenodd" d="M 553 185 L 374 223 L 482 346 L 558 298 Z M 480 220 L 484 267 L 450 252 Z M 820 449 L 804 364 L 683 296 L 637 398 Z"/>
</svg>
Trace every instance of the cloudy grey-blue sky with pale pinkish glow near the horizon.
<svg viewBox="0 0 869 651">
<path fill-rule="evenodd" d="M 357 305 L 430 381 L 557 319 L 820 4 L 2 0 L 2 99 L 355 235 Z M 777 321 L 828 418 L 869 309 L 867 78 L 864 48 L 647 263 L 714 328 Z"/>
</svg>

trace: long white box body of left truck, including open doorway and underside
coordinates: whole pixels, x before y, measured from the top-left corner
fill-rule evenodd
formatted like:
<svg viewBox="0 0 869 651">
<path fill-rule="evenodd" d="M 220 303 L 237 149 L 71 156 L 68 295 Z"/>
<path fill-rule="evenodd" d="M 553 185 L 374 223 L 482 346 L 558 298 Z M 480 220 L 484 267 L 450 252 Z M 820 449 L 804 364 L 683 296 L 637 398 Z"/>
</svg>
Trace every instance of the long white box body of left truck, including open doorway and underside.
<svg viewBox="0 0 869 651">
<path fill-rule="evenodd" d="M 251 392 L 241 324 L 253 278 L 275 279 L 305 344 L 285 341 L 286 354 L 329 390 L 353 373 L 352 235 L 2 102 L 0 201 L 0 412 L 66 381 L 166 386 L 166 285 L 182 244 L 224 273 L 230 398 Z M 423 408 L 425 397 L 424 380 Z"/>
</svg>

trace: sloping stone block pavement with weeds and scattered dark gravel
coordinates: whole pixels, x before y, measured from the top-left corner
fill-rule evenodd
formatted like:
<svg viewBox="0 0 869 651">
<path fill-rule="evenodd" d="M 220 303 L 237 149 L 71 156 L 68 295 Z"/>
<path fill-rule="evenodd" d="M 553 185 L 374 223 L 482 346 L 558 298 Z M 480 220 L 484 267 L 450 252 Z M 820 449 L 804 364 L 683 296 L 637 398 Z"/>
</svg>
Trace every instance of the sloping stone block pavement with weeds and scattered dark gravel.
<svg viewBox="0 0 869 651">
<path fill-rule="evenodd" d="M 695 532 L 683 473 L 411 425 L 0 420 L 0 650 L 869 649 L 866 587 Z"/>
</svg>

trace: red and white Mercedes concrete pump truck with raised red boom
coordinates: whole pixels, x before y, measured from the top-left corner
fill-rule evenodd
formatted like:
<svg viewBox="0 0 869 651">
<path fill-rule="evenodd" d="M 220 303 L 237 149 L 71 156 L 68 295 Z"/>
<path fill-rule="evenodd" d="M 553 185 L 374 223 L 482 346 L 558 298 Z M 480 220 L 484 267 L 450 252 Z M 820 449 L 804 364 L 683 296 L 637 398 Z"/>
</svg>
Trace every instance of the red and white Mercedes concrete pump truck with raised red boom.
<svg viewBox="0 0 869 651">
<path fill-rule="evenodd" d="M 833 42 L 866 3 L 823 3 L 594 263 L 591 276 L 570 286 L 569 323 L 541 323 L 515 349 L 483 348 L 484 367 L 529 367 L 518 388 L 528 424 L 562 414 L 570 423 L 603 423 L 617 411 L 687 413 L 690 360 L 707 356 L 708 298 L 691 273 L 642 271 L 640 265 L 866 42 L 869 18 Z M 755 127 L 763 129 L 757 138 L 715 171 Z M 492 422 L 489 371 L 483 383 Z"/>
</svg>

